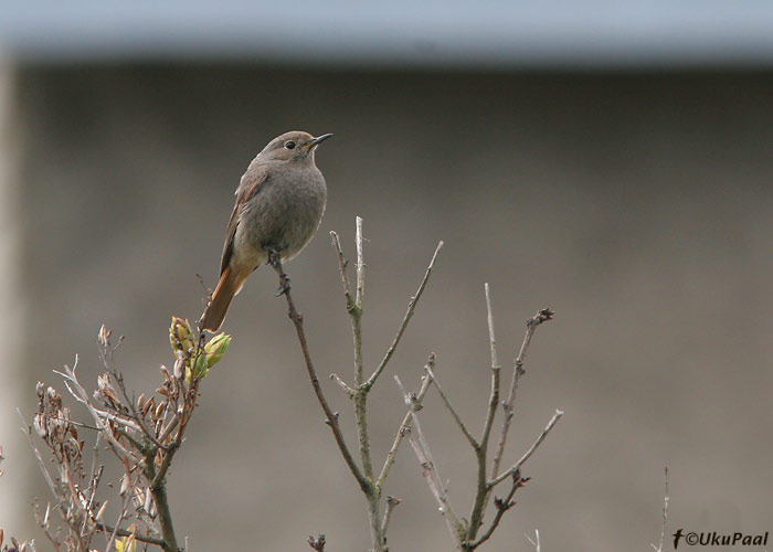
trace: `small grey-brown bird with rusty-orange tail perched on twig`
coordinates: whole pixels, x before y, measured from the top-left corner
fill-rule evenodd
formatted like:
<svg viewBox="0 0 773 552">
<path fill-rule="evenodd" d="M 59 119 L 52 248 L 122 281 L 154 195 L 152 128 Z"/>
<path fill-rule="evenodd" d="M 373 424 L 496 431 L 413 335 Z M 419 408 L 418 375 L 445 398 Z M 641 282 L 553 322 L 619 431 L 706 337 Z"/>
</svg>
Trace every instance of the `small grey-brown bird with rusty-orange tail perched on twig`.
<svg viewBox="0 0 773 552">
<path fill-rule="evenodd" d="M 327 185 L 315 152 L 331 136 L 285 132 L 252 160 L 236 188 L 220 279 L 199 320 L 200 330 L 220 329 L 234 296 L 269 255 L 290 261 L 311 241 L 327 202 Z"/>
</svg>

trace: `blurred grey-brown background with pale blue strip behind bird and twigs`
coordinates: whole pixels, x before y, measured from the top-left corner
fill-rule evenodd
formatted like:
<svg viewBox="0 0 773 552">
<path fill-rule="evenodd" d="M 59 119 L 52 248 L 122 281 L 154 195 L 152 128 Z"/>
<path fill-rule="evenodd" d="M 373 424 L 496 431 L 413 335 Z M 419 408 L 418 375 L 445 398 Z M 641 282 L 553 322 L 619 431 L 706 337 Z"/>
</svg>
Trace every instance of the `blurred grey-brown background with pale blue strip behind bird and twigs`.
<svg viewBox="0 0 773 552">
<path fill-rule="evenodd" d="M 19 432 L 34 384 L 102 323 L 126 336 L 128 382 L 171 363 L 171 315 L 214 286 L 233 190 L 290 129 L 335 132 L 317 237 L 287 268 L 320 375 L 351 380 L 328 233 L 368 237 L 366 360 L 374 367 L 438 240 L 436 272 L 371 395 L 374 455 L 431 351 L 473 427 L 489 359 L 551 307 L 521 380 L 507 460 L 554 408 L 485 550 L 647 550 L 663 469 L 669 531 L 773 530 L 773 7 L 719 2 L 3 2 L 0 10 L 0 526 L 46 541 L 47 489 Z M 207 379 L 170 475 L 190 550 L 367 550 L 364 502 L 301 364 L 275 275 L 234 302 L 233 344 Z M 325 389 L 353 442 L 351 410 Z M 75 408 L 78 415 L 85 415 Z M 422 412 L 451 498 L 474 458 L 437 397 Z M 391 550 L 452 542 L 405 447 Z M 490 519 L 490 514 L 489 514 Z"/>
</svg>

